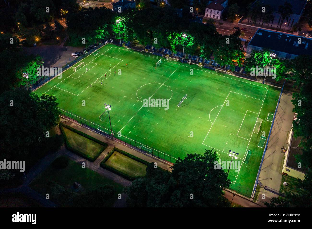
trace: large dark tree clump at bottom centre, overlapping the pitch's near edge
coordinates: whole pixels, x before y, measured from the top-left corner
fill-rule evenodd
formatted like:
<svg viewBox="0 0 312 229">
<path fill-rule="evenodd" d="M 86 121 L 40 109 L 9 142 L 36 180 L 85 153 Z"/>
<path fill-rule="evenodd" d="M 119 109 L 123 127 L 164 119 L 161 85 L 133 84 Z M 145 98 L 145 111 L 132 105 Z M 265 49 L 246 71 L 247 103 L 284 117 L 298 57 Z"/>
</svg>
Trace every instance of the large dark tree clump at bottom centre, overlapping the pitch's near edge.
<svg viewBox="0 0 312 229">
<path fill-rule="evenodd" d="M 129 207 L 229 207 L 222 187 L 230 180 L 222 169 L 215 169 L 219 155 L 206 150 L 203 155 L 187 154 L 178 158 L 172 173 L 154 168 L 125 188 Z M 193 197 L 193 198 L 190 198 Z"/>
</svg>

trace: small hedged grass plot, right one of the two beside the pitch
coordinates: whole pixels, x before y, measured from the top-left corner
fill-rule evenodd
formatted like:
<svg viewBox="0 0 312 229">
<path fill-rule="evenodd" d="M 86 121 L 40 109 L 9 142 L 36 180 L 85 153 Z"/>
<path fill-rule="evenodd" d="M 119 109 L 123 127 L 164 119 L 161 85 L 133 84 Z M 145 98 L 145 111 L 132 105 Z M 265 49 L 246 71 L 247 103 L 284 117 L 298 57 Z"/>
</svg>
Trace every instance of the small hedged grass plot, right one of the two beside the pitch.
<svg viewBox="0 0 312 229">
<path fill-rule="evenodd" d="M 145 176 L 145 169 L 147 167 L 147 165 L 135 161 L 117 151 L 110 156 L 110 158 L 105 162 L 105 165 L 113 167 L 132 177 Z"/>
</svg>

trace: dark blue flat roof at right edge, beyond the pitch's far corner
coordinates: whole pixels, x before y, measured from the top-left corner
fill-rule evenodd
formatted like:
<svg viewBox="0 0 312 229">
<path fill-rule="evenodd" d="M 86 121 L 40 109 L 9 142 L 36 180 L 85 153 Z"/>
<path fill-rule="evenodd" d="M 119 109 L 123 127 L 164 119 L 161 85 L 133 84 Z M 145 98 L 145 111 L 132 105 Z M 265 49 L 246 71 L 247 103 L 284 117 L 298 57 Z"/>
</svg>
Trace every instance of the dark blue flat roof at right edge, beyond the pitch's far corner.
<svg viewBox="0 0 312 229">
<path fill-rule="evenodd" d="M 301 38 L 301 44 L 298 44 L 298 38 Z M 264 29 L 258 29 L 249 45 L 292 55 L 312 55 L 311 38 Z"/>
</svg>

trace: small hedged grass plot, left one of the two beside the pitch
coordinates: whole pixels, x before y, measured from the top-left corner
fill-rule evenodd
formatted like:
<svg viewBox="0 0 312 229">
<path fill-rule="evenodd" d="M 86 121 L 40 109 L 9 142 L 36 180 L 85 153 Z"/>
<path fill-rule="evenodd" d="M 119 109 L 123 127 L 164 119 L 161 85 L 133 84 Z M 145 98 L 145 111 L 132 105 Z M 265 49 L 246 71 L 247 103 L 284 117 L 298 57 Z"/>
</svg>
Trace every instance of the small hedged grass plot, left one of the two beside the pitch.
<svg viewBox="0 0 312 229">
<path fill-rule="evenodd" d="M 68 143 L 72 148 L 84 153 L 85 155 L 89 155 L 91 158 L 95 158 L 98 153 L 105 150 L 105 146 L 100 145 L 80 134 L 77 134 L 67 128 L 63 128 Z"/>
</svg>

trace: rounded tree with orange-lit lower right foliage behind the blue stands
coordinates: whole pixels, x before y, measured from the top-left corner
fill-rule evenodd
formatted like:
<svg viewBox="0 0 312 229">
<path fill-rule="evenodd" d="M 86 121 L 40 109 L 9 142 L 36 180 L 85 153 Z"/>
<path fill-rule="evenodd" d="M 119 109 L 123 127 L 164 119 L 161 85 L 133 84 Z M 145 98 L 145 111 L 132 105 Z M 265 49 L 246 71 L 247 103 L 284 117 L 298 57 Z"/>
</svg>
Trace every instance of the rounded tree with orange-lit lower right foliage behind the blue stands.
<svg viewBox="0 0 312 229">
<path fill-rule="evenodd" d="M 213 56 L 221 66 L 234 63 L 241 66 L 245 57 L 241 39 L 234 35 L 222 36 L 213 51 Z"/>
</svg>

